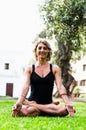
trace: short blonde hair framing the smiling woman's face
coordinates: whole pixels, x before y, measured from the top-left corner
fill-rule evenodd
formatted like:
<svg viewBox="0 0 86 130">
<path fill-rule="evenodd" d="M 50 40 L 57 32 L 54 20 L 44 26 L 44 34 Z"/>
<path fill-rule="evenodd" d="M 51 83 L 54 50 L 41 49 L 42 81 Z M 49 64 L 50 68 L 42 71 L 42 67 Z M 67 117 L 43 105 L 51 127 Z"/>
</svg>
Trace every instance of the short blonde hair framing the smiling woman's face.
<svg viewBox="0 0 86 130">
<path fill-rule="evenodd" d="M 36 50 L 37 50 L 37 47 L 38 47 L 38 45 L 39 45 L 40 43 L 43 43 L 43 44 L 47 47 L 47 49 L 48 49 L 47 61 L 49 61 L 49 60 L 51 59 L 52 49 L 51 49 L 51 46 L 50 46 L 50 44 L 48 43 L 48 41 L 45 40 L 45 39 L 38 39 L 38 40 L 35 42 L 35 47 L 34 47 L 34 50 L 33 50 L 33 52 L 34 52 L 34 54 L 35 54 L 35 58 L 36 58 L 36 60 L 37 60 Z"/>
</svg>

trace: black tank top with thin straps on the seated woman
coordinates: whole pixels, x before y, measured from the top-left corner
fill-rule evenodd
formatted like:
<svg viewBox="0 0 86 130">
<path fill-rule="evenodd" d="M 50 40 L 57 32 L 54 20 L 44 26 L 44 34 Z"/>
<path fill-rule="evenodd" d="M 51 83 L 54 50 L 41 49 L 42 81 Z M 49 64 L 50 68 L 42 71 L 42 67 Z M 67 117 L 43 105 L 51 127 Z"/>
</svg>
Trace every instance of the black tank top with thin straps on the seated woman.
<svg viewBox="0 0 86 130">
<path fill-rule="evenodd" d="M 54 75 L 52 72 L 52 64 L 50 64 L 50 72 L 45 77 L 40 77 L 35 72 L 35 65 L 32 65 L 31 74 L 31 93 L 29 101 L 36 101 L 38 104 L 49 104 L 52 102 L 52 92 L 54 86 Z"/>
</svg>

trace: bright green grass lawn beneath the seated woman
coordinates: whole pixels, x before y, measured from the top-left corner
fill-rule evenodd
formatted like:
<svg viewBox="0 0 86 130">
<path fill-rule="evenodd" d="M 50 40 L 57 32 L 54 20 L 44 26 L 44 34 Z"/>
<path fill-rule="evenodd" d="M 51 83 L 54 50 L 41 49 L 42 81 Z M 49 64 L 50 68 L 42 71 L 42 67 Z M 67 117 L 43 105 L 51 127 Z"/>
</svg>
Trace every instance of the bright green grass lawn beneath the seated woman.
<svg viewBox="0 0 86 130">
<path fill-rule="evenodd" d="M 15 100 L 0 100 L 0 130 L 86 130 L 86 104 L 74 103 L 74 118 L 11 117 Z"/>
</svg>

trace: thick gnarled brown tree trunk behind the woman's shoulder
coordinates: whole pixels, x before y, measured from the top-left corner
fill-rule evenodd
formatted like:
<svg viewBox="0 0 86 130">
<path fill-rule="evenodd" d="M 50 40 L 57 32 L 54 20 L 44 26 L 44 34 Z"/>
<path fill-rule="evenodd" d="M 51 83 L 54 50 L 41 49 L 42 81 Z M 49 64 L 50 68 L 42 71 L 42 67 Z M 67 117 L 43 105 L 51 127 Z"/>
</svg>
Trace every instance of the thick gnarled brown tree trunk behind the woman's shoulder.
<svg viewBox="0 0 86 130">
<path fill-rule="evenodd" d="M 58 58 L 59 58 L 59 66 L 61 68 L 61 76 L 63 80 L 63 85 L 67 90 L 67 94 L 71 95 L 74 87 L 75 87 L 75 79 L 69 73 L 70 71 L 70 59 L 72 56 L 71 44 L 64 45 L 63 42 L 58 41 Z M 70 89 L 70 85 L 73 85 Z"/>
</svg>

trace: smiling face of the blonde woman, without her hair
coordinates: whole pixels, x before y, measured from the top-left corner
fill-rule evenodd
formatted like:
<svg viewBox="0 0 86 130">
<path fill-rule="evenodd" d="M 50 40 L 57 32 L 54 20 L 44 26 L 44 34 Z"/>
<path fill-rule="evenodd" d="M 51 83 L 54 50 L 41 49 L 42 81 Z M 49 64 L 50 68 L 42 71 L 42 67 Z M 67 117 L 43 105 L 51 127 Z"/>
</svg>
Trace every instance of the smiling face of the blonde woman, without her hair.
<svg viewBox="0 0 86 130">
<path fill-rule="evenodd" d="M 43 43 L 39 43 L 37 48 L 36 48 L 36 56 L 37 56 L 37 59 L 39 59 L 39 58 L 47 59 L 47 57 L 48 57 L 47 46 L 44 45 Z"/>
</svg>

